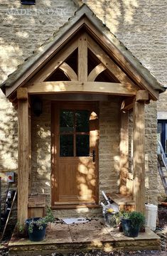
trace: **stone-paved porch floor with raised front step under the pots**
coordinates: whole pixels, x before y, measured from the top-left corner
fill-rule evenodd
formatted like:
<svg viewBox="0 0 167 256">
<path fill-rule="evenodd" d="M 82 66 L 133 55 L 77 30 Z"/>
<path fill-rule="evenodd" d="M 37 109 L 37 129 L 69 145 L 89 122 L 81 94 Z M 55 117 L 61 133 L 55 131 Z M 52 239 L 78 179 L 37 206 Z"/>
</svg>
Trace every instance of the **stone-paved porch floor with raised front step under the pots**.
<svg viewBox="0 0 167 256">
<path fill-rule="evenodd" d="M 102 219 L 93 219 L 71 225 L 52 223 L 41 242 L 19 239 L 16 235 L 9 242 L 10 256 L 48 255 L 53 252 L 66 255 L 90 250 L 160 250 L 160 238 L 149 229 L 137 238 L 128 238 L 118 228 L 107 228 Z"/>
</svg>

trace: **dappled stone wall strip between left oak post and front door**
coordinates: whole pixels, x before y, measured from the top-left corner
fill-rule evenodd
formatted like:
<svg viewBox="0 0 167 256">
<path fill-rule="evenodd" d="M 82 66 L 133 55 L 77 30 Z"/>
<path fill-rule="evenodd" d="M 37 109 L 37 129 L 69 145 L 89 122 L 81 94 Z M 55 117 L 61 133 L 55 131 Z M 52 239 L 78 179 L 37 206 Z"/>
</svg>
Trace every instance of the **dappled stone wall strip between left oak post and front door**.
<svg viewBox="0 0 167 256">
<path fill-rule="evenodd" d="M 31 113 L 31 193 L 45 193 L 50 204 L 50 102 L 43 100 L 43 113 Z"/>
</svg>

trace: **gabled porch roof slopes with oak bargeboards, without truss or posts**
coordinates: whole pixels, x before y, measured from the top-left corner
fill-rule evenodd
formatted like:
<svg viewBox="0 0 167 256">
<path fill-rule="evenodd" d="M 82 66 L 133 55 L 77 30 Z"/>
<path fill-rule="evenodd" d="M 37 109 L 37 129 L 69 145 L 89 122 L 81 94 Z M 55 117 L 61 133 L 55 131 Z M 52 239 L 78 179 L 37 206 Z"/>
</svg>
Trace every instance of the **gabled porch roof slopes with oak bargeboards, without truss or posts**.
<svg viewBox="0 0 167 256">
<path fill-rule="evenodd" d="M 10 98 L 18 87 L 25 85 L 83 27 L 97 43 L 104 47 L 117 65 L 140 89 L 147 90 L 152 100 L 158 100 L 158 93 L 164 91 L 161 84 L 85 4 L 76 11 L 75 16 L 70 18 L 68 23 L 53 34 L 53 38 L 50 38 L 30 58 L 18 66 L 14 73 L 9 75 L 9 78 L 1 85 L 1 90 L 5 92 L 6 97 Z"/>
</svg>

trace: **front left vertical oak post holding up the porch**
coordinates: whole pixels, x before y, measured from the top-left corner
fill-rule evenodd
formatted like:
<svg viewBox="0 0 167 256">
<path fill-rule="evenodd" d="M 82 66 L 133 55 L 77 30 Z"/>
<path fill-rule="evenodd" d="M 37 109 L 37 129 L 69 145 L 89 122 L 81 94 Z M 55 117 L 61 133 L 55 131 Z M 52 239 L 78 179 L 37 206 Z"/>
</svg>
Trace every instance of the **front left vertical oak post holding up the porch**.
<svg viewBox="0 0 167 256">
<path fill-rule="evenodd" d="M 28 218 L 28 94 L 27 88 L 17 91 L 18 98 L 18 222 Z"/>
</svg>

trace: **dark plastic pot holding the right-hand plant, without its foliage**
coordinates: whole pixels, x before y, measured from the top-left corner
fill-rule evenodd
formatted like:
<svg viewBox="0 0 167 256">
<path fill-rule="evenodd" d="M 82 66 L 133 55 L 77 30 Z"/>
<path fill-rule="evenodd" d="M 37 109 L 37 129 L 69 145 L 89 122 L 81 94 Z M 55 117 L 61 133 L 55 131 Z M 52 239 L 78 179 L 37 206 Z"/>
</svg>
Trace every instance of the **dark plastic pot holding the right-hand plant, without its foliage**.
<svg viewBox="0 0 167 256">
<path fill-rule="evenodd" d="M 139 235 L 140 226 L 131 227 L 131 220 L 122 219 L 122 228 L 127 237 L 136 238 Z"/>
</svg>

